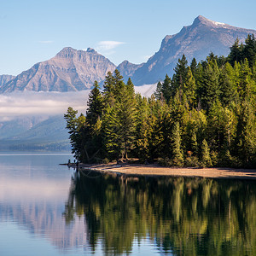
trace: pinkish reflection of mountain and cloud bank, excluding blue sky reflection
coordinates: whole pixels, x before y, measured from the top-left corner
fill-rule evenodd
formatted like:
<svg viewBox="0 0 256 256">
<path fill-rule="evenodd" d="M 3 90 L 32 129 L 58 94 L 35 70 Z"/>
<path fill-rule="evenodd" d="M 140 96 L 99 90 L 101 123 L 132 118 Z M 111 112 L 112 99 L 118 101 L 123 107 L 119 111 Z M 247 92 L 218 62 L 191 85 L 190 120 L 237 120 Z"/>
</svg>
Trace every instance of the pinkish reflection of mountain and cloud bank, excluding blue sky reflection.
<svg viewBox="0 0 256 256">
<path fill-rule="evenodd" d="M 30 234 L 45 237 L 64 252 L 72 247 L 86 247 L 84 218 L 76 218 L 68 225 L 63 218 L 69 186 L 66 178 L 1 177 L 0 224 L 14 222 Z"/>
</svg>

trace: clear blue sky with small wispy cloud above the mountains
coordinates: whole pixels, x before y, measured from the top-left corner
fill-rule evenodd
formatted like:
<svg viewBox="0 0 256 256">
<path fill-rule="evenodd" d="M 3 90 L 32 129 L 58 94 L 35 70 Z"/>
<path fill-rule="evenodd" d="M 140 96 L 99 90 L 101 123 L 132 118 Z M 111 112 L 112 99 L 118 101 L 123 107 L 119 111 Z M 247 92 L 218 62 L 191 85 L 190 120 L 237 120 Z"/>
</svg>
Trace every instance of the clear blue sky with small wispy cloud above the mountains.
<svg viewBox="0 0 256 256">
<path fill-rule="evenodd" d="M 17 75 L 67 46 L 94 48 L 116 65 L 142 63 L 198 15 L 256 29 L 255 9 L 255 0 L 0 0 L 0 74 Z"/>
</svg>

